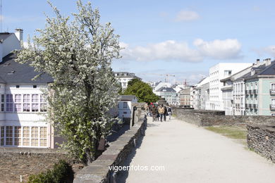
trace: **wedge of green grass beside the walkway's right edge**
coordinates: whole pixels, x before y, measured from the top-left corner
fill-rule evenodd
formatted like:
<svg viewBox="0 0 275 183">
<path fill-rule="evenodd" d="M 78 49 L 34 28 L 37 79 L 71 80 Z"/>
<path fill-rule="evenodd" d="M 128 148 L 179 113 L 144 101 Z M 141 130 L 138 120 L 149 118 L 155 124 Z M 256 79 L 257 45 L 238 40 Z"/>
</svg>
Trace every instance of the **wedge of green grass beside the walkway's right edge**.
<svg viewBox="0 0 275 183">
<path fill-rule="evenodd" d="M 210 130 L 212 132 L 216 132 L 218 134 L 222 134 L 231 139 L 238 139 L 242 142 L 242 144 L 246 144 L 246 135 L 247 135 L 246 127 L 215 126 L 215 127 L 205 127 L 205 129 Z"/>
</svg>

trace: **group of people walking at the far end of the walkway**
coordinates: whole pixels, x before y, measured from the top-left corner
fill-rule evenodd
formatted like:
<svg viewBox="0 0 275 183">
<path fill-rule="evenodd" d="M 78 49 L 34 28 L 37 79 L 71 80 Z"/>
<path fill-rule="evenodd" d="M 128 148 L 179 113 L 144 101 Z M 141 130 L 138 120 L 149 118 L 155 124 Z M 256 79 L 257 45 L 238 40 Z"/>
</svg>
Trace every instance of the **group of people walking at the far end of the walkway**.
<svg viewBox="0 0 275 183">
<path fill-rule="evenodd" d="M 152 116 L 153 122 L 154 121 L 166 121 L 166 116 L 169 115 L 169 120 L 171 120 L 171 115 L 172 115 L 172 108 L 164 106 L 161 104 L 159 106 L 156 103 L 150 103 L 149 105 L 146 103 L 145 104 L 145 112 L 147 115 Z"/>
</svg>

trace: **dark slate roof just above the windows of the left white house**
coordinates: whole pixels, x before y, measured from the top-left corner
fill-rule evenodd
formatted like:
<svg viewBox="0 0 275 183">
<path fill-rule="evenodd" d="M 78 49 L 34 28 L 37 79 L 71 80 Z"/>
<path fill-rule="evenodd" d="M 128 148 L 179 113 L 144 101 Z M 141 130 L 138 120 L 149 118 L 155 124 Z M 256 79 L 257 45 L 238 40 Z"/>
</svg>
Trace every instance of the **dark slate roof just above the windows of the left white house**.
<svg viewBox="0 0 275 183">
<path fill-rule="evenodd" d="M 2 83 L 49 83 L 54 79 L 42 74 L 37 80 L 32 80 L 39 72 L 35 72 L 35 68 L 27 63 L 21 64 L 15 61 L 16 55 L 10 53 L 3 58 L 0 63 L 0 82 Z"/>
</svg>

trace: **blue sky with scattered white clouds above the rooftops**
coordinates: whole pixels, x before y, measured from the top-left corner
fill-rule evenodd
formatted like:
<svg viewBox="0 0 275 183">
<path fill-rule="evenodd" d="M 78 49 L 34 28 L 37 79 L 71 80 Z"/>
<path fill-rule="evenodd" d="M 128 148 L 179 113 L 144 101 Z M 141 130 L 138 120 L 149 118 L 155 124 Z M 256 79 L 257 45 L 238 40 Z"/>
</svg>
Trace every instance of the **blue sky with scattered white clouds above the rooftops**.
<svg viewBox="0 0 275 183">
<path fill-rule="evenodd" d="M 51 0 L 61 14 L 77 12 L 74 0 Z M 83 2 L 87 2 L 84 1 Z M 217 63 L 255 63 L 275 57 L 275 1 L 94 0 L 102 24 L 110 22 L 123 46 L 114 71 L 144 81 L 195 84 Z M 2 0 L 2 31 L 23 29 L 23 39 L 45 25 L 46 0 Z"/>
</svg>

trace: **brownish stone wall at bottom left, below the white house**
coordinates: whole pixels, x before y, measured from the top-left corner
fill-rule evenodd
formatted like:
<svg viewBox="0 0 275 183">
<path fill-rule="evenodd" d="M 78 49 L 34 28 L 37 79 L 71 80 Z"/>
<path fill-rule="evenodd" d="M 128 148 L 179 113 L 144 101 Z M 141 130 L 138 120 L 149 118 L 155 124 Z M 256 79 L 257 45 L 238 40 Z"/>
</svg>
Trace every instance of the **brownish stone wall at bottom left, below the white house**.
<svg viewBox="0 0 275 183">
<path fill-rule="evenodd" d="M 23 182 L 32 174 L 53 168 L 59 160 L 68 160 L 66 153 L 56 149 L 1 148 L 0 182 Z"/>
</svg>

